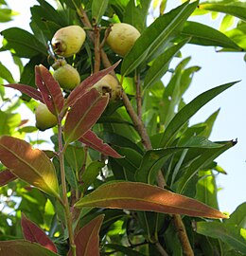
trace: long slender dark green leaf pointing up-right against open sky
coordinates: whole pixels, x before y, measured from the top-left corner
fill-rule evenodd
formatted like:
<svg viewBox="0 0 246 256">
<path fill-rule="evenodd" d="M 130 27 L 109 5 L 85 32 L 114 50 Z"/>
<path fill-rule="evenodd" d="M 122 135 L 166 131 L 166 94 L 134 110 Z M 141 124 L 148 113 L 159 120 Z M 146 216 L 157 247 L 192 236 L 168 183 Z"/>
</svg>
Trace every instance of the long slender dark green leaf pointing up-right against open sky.
<svg viewBox="0 0 246 256">
<path fill-rule="evenodd" d="M 218 96 L 221 92 L 228 89 L 237 82 L 229 82 L 222 84 L 218 87 L 212 88 L 201 95 L 196 97 L 193 101 L 186 104 L 173 119 L 169 122 L 167 129 L 164 132 L 162 139 L 160 140 L 159 146 L 164 148 L 171 143 L 172 139 L 177 135 L 180 129 L 184 126 L 185 122 L 195 115 L 203 105 L 213 98 Z"/>
</svg>

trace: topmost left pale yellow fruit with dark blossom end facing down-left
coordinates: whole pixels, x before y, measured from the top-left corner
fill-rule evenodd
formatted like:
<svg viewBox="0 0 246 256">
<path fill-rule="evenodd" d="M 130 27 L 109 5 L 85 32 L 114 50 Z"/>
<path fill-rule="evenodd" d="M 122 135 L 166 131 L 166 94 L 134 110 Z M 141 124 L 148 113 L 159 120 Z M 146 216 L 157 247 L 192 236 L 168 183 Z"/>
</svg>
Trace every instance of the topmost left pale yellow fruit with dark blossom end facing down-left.
<svg viewBox="0 0 246 256">
<path fill-rule="evenodd" d="M 85 31 L 77 25 L 62 27 L 54 34 L 51 44 L 57 55 L 70 57 L 77 52 L 85 41 Z"/>
</svg>

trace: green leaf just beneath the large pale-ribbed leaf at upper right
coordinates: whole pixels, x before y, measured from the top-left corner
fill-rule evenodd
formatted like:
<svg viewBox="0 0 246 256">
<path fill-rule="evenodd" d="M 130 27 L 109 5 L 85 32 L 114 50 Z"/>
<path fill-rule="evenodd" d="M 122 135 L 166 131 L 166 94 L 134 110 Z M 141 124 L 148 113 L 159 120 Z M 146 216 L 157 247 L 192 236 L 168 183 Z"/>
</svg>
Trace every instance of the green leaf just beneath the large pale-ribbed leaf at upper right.
<svg viewBox="0 0 246 256">
<path fill-rule="evenodd" d="M 153 64 L 151 64 L 145 78 L 144 89 L 158 82 L 167 72 L 168 65 L 174 55 L 188 42 L 189 40 L 184 40 L 178 45 L 169 47 L 163 54 L 155 59 Z"/>
</svg>

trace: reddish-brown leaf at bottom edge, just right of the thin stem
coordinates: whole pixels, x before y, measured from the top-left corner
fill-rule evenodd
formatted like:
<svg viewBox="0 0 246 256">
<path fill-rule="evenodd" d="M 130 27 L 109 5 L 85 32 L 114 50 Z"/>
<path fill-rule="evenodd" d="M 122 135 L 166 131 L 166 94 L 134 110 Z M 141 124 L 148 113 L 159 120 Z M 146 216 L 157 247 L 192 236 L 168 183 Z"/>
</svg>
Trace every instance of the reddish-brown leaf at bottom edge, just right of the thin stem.
<svg viewBox="0 0 246 256">
<path fill-rule="evenodd" d="M 76 254 L 78 256 L 99 256 L 99 230 L 103 221 L 104 215 L 98 215 L 90 221 L 82 229 L 79 230 L 75 237 Z M 71 249 L 67 256 L 72 256 Z"/>
</svg>

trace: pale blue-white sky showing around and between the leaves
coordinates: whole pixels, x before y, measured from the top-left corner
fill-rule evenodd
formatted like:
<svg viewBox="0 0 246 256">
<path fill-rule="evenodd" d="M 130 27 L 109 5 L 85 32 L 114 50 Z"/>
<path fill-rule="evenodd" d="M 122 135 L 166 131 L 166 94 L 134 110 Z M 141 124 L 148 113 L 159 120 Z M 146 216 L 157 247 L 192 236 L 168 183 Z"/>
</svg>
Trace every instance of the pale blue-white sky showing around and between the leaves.
<svg viewBox="0 0 246 256">
<path fill-rule="evenodd" d="M 8 0 L 7 2 L 9 7 L 20 12 L 20 15 L 16 16 L 13 22 L 0 24 L 0 30 L 8 27 L 29 29 L 29 7 L 37 2 L 34 0 Z M 180 5 L 178 0 L 167 1 L 167 3 L 171 3 L 167 5 L 167 9 Z M 215 28 L 218 28 L 220 24 L 218 20 L 212 20 L 209 15 L 192 19 Z M 220 174 L 217 178 L 218 187 L 221 189 L 218 194 L 220 210 L 231 213 L 239 204 L 246 201 L 246 63 L 243 60 L 244 53 L 219 53 L 211 46 L 186 45 L 182 48 L 182 55 L 183 58 L 192 57 L 189 65 L 202 67 L 195 74 L 191 86 L 184 95 L 185 102 L 192 101 L 202 92 L 220 84 L 241 81 L 207 103 L 190 120 L 191 124 L 202 122 L 220 108 L 210 140 L 237 139 L 235 147 L 216 159 L 227 172 L 227 175 Z M 17 67 L 12 64 L 9 54 L 0 52 L 0 61 L 9 67 L 14 78 L 18 80 Z M 175 62 L 177 64 L 179 61 L 175 60 L 173 67 L 175 67 Z M 26 111 L 23 119 L 30 118 L 29 114 Z"/>
</svg>

